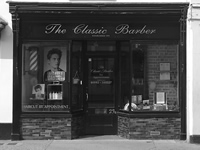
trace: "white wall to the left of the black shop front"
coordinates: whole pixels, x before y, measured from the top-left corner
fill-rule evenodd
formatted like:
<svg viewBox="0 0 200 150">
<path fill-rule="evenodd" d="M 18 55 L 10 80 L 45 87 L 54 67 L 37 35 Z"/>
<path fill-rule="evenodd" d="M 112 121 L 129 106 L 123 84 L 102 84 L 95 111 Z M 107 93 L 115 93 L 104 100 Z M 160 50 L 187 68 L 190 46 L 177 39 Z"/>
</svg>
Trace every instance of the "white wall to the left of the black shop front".
<svg viewBox="0 0 200 150">
<path fill-rule="evenodd" d="M 6 0 L 0 1 L 0 17 L 8 25 L 0 37 L 0 123 L 12 122 L 12 23 Z"/>
</svg>

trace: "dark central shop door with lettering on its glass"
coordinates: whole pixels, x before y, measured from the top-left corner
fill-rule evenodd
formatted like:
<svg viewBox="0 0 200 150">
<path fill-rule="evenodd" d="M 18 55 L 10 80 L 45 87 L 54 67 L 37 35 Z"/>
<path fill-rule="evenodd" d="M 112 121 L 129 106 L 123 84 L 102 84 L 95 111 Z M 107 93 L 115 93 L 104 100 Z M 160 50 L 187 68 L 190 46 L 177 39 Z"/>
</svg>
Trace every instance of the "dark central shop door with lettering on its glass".
<svg viewBox="0 0 200 150">
<path fill-rule="evenodd" d="M 115 58 L 87 57 L 86 134 L 117 133 Z"/>
</svg>

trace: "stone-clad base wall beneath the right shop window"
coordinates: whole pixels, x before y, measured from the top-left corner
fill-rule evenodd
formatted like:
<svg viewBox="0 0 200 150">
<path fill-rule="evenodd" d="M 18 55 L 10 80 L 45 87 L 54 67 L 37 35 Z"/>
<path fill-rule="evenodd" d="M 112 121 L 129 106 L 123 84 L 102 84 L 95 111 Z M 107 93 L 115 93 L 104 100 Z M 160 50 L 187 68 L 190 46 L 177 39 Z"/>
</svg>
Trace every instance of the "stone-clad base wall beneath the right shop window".
<svg viewBox="0 0 200 150">
<path fill-rule="evenodd" d="M 128 139 L 180 139 L 180 118 L 118 116 L 118 135 Z"/>
</svg>

